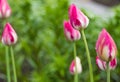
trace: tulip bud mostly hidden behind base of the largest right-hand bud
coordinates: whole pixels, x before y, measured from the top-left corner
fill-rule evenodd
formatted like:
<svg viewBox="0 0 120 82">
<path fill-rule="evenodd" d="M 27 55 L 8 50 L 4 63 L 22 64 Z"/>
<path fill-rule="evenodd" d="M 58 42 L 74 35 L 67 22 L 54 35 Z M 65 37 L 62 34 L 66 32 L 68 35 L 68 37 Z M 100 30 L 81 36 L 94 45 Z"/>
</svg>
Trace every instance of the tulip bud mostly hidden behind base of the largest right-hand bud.
<svg viewBox="0 0 120 82">
<path fill-rule="evenodd" d="M 101 60 L 98 56 L 96 57 L 96 64 L 99 69 L 101 70 L 106 70 L 107 69 L 107 63 L 103 60 Z M 114 58 L 113 60 L 109 61 L 109 66 L 111 70 L 114 70 L 115 67 L 117 66 L 117 59 Z"/>
</svg>

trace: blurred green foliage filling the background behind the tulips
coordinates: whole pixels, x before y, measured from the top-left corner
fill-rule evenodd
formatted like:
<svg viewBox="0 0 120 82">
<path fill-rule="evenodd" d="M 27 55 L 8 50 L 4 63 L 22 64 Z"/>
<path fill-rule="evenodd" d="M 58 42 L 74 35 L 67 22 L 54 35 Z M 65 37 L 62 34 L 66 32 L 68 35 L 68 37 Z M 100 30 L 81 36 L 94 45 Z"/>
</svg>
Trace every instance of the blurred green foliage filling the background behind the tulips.
<svg viewBox="0 0 120 82">
<path fill-rule="evenodd" d="M 73 60 L 73 43 L 65 39 L 63 20 L 68 20 L 69 0 L 8 0 L 12 15 L 8 19 L 18 34 L 14 55 L 18 82 L 73 82 L 69 73 Z M 82 11 L 90 23 L 85 30 L 94 71 L 95 82 L 106 82 L 106 72 L 97 68 L 95 43 L 105 27 L 118 47 L 117 67 L 111 71 L 111 82 L 120 81 L 120 6 L 115 15 L 104 20 L 88 10 Z M 1 27 L 0 27 L 1 28 Z M 2 29 L 0 30 L 2 31 Z M 89 69 L 83 40 L 77 43 L 77 55 L 83 71 L 80 82 L 89 82 Z M 6 82 L 5 47 L 0 44 L 0 82 Z M 12 71 L 11 71 L 12 72 Z"/>
</svg>

